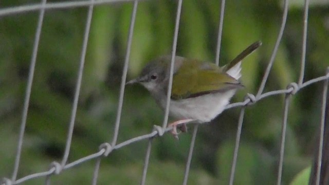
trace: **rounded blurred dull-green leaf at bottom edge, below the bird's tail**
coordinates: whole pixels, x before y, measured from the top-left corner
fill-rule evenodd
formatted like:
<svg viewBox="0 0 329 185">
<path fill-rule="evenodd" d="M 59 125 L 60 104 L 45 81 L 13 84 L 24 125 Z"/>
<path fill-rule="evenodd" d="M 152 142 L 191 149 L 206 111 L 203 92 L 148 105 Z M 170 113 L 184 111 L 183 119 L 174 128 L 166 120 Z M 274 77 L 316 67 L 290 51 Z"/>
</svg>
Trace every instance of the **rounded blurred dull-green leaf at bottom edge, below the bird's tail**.
<svg viewBox="0 0 329 185">
<path fill-rule="evenodd" d="M 218 176 L 224 184 L 229 182 L 233 159 L 234 143 L 222 144 L 217 154 Z M 256 145 L 241 142 L 237 157 L 234 184 L 268 184 L 275 176 L 271 173 L 272 159 Z"/>
</svg>

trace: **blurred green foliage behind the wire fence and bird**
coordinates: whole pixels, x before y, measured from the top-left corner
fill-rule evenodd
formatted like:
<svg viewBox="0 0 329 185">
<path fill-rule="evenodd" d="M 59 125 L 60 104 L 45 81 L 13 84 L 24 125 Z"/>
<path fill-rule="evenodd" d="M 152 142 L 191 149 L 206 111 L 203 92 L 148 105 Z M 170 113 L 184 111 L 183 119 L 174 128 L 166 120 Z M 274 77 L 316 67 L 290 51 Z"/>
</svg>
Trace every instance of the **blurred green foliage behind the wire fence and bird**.
<svg viewBox="0 0 329 185">
<path fill-rule="evenodd" d="M 49 1 L 57 2 L 57 1 Z M 3 0 L 0 8 L 38 3 Z M 282 16 L 281 1 L 227 1 L 220 64 L 261 40 L 263 46 L 243 63 L 246 93 L 257 93 L 276 42 Z M 63 155 L 71 114 L 87 8 L 47 10 L 27 118 L 19 178 L 45 171 Z M 94 8 L 69 161 L 98 151 L 110 141 L 118 105 L 119 85 L 130 25 L 132 3 Z M 324 75 L 329 65 L 329 4 L 311 1 L 308 20 L 305 80 Z M 213 61 L 220 1 L 185 0 L 182 5 L 177 55 Z M 11 177 L 24 93 L 38 12 L 0 18 L 0 176 Z M 169 54 L 176 1 L 140 2 L 128 78 L 134 78 L 149 60 Z M 290 3 L 283 40 L 265 91 L 284 89 L 297 82 L 300 71 L 303 1 Z M 283 184 L 312 163 L 320 120 L 322 83 L 300 91 L 290 104 Z M 270 97 L 246 109 L 242 143 L 234 184 L 273 184 L 276 181 L 283 95 Z M 189 184 L 227 184 L 240 108 L 226 110 L 199 127 Z M 162 123 L 163 114 L 147 90 L 125 90 L 118 142 L 149 133 Z M 191 130 L 191 128 L 190 128 Z M 147 184 L 179 184 L 184 175 L 191 132 L 154 140 Z M 137 184 L 141 179 L 147 141 L 114 151 L 101 163 L 99 184 Z M 95 161 L 53 176 L 54 184 L 89 184 Z M 35 179 L 24 184 L 43 184 Z M 295 180 L 296 183 L 296 180 Z"/>
</svg>

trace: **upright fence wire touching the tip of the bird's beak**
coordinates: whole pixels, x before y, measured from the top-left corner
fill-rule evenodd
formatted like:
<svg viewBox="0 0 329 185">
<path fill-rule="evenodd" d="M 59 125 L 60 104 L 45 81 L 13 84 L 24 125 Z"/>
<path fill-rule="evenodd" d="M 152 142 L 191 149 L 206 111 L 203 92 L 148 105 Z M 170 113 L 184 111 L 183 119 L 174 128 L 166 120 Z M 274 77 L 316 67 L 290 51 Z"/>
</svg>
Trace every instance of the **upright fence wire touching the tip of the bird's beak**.
<svg viewBox="0 0 329 185">
<path fill-rule="evenodd" d="M 129 59 L 130 59 L 130 51 L 131 51 L 131 47 L 132 47 L 132 40 L 133 40 L 133 35 L 134 35 L 134 27 L 135 27 L 137 6 L 138 6 L 138 1 L 135 0 L 134 1 L 133 12 L 132 12 L 131 23 L 130 23 L 130 27 L 129 27 L 128 40 L 127 40 L 127 49 L 126 49 L 126 53 L 125 53 L 124 66 L 123 66 L 123 72 L 122 72 L 122 77 L 121 77 L 118 112 L 117 112 L 117 118 L 116 118 L 116 121 L 115 121 L 115 128 L 114 128 L 114 134 L 113 134 L 113 139 L 112 139 L 112 146 L 113 147 L 116 145 L 117 139 L 118 139 L 119 126 L 120 126 L 120 120 L 121 120 L 121 112 L 122 112 L 122 104 L 123 104 L 123 95 L 124 95 L 125 81 L 126 81 L 126 78 L 127 78 L 127 71 L 128 71 L 128 65 L 129 65 Z"/>
</svg>

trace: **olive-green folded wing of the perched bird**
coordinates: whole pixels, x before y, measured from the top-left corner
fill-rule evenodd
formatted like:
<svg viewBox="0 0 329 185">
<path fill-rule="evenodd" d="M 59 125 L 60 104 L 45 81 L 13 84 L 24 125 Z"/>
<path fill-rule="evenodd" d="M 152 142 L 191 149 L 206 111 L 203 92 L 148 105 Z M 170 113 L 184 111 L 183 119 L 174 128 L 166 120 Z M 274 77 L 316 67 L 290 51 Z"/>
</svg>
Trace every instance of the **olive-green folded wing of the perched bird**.
<svg viewBox="0 0 329 185">
<path fill-rule="evenodd" d="M 242 87 L 215 64 L 186 61 L 174 74 L 171 98 L 175 100 Z"/>
</svg>

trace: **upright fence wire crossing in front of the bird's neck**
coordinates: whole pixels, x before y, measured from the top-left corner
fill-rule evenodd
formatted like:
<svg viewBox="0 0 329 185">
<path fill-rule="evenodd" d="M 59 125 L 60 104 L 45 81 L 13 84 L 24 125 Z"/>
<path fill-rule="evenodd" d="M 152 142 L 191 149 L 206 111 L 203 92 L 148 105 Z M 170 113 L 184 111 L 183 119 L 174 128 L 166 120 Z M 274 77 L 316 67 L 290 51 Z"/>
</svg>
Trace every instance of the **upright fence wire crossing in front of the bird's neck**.
<svg viewBox="0 0 329 185">
<path fill-rule="evenodd" d="M 167 91 L 166 110 L 165 110 L 165 118 L 163 119 L 163 123 L 162 123 L 162 129 L 165 129 L 168 124 L 169 106 L 170 106 L 170 98 L 171 98 L 171 89 L 172 89 L 172 85 L 173 85 L 174 64 L 175 64 L 175 56 L 176 56 L 176 48 L 177 48 L 181 5 L 182 5 L 182 0 L 178 0 L 174 38 L 173 38 L 173 47 L 172 47 L 172 51 L 171 51 L 170 77 L 169 77 L 168 91 Z"/>
</svg>

